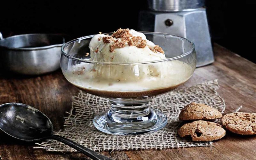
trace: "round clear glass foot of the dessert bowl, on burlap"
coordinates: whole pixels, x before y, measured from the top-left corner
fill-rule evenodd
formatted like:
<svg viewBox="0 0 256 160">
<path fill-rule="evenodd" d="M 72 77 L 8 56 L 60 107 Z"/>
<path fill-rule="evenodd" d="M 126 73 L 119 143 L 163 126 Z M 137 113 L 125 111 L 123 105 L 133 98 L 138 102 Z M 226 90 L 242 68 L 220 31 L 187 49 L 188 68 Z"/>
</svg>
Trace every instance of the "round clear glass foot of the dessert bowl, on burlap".
<svg viewBox="0 0 256 160">
<path fill-rule="evenodd" d="M 105 133 L 114 135 L 139 135 L 156 132 L 167 123 L 167 117 L 156 109 L 149 109 L 147 115 L 127 118 L 116 116 L 111 110 L 97 115 L 94 126 Z"/>
</svg>

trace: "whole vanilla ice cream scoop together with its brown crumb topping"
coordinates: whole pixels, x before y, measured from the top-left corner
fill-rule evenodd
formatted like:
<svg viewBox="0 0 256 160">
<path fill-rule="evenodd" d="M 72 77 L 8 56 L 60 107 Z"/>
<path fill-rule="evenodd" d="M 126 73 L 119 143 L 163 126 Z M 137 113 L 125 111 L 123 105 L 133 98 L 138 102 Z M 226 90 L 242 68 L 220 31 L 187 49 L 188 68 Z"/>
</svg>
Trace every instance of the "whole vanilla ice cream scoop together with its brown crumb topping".
<svg viewBox="0 0 256 160">
<path fill-rule="evenodd" d="M 136 63 L 166 59 L 158 45 L 146 39 L 143 33 L 131 29 L 118 29 L 111 36 L 98 34 L 89 44 L 90 60 L 99 62 Z M 113 81 L 139 80 L 162 76 L 163 63 L 148 64 L 93 64 L 89 67 L 92 77 Z"/>
</svg>

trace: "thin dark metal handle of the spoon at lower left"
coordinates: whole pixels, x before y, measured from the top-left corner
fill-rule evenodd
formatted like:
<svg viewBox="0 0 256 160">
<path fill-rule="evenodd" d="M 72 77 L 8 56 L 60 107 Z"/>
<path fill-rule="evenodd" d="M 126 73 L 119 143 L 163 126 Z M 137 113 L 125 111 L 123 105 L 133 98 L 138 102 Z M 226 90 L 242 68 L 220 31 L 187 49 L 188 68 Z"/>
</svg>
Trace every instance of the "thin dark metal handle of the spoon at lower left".
<svg viewBox="0 0 256 160">
<path fill-rule="evenodd" d="M 80 144 L 77 144 L 76 142 L 73 142 L 72 140 L 68 140 L 64 137 L 61 137 L 59 135 L 54 135 L 52 134 L 52 136 L 50 137 L 47 137 L 49 139 L 53 139 L 53 140 L 58 140 L 74 149 L 76 149 L 77 151 L 85 154 L 86 156 L 94 159 L 94 160 L 113 160 L 111 158 L 108 158 L 106 156 L 103 156 L 97 152 L 94 152 L 93 150 L 91 149 L 88 149 L 88 148 L 85 148 L 84 146 L 80 145 Z"/>
</svg>

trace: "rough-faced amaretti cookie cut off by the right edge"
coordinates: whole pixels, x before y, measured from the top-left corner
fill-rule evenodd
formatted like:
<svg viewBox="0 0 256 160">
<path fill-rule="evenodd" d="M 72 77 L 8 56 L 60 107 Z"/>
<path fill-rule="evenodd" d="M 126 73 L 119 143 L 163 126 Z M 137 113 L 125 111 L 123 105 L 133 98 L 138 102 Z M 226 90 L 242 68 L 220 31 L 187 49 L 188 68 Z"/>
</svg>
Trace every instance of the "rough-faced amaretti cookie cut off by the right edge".
<svg viewBox="0 0 256 160">
<path fill-rule="evenodd" d="M 256 134 L 256 113 L 236 112 L 222 117 L 222 125 L 230 132 L 243 135 Z"/>
</svg>

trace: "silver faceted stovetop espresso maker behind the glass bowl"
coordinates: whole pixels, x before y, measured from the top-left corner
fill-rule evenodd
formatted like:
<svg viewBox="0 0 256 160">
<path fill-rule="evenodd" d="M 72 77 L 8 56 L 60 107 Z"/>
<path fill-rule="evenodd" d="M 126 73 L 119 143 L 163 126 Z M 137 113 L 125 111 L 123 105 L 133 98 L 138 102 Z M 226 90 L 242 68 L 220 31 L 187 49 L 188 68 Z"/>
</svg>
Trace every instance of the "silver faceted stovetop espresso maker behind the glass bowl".
<svg viewBox="0 0 256 160">
<path fill-rule="evenodd" d="M 170 33 L 195 44 L 196 67 L 214 61 L 204 0 L 148 0 L 148 10 L 140 11 L 139 30 Z"/>
</svg>

